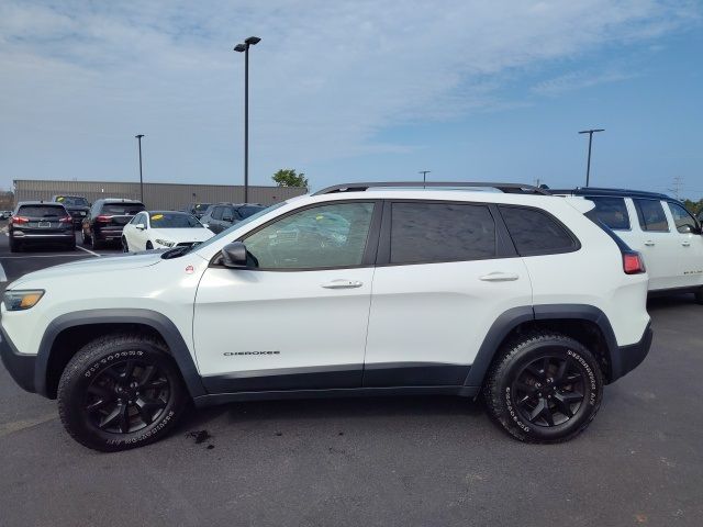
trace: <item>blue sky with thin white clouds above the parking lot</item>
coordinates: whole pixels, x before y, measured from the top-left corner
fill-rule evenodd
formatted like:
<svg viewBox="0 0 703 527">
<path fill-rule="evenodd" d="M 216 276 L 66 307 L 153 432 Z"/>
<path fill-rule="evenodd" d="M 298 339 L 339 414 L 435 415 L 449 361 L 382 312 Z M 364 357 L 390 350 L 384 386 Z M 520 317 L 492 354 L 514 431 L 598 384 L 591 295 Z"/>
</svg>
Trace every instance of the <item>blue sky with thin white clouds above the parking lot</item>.
<svg viewBox="0 0 703 527">
<path fill-rule="evenodd" d="M 146 4 L 145 4 L 146 3 Z M 685 0 L 0 2 L 13 179 L 591 184 L 703 197 L 703 5 Z"/>
</svg>

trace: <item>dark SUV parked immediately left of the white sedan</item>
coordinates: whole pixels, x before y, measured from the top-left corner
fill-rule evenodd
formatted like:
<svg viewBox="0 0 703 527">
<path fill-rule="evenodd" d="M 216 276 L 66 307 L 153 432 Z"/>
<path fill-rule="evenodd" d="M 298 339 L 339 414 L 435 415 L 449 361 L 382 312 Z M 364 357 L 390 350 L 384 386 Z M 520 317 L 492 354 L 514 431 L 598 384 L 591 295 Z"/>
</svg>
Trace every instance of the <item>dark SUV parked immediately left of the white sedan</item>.
<svg viewBox="0 0 703 527">
<path fill-rule="evenodd" d="M 96 201 L 82 222 L 83 245 L 100 249 L 107 242 L 120 242 L 122 228 L 144 210 L 144 203 L 135 200 L 109 198 Z"/>
</svg>

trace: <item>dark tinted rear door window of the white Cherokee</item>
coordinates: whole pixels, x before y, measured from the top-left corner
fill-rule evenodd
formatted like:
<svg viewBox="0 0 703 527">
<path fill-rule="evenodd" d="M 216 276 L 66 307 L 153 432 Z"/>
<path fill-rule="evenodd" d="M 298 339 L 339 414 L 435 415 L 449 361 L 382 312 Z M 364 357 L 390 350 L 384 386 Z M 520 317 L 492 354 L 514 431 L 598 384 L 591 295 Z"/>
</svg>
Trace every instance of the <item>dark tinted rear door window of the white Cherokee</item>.
<svg viewBox="0 0 703 527">
<path fill-rule="evenodd" d="M 393 203 L 391 264 L 475 260 L 495 256 L 495 223 L 486 205 Z"/>
</svg>

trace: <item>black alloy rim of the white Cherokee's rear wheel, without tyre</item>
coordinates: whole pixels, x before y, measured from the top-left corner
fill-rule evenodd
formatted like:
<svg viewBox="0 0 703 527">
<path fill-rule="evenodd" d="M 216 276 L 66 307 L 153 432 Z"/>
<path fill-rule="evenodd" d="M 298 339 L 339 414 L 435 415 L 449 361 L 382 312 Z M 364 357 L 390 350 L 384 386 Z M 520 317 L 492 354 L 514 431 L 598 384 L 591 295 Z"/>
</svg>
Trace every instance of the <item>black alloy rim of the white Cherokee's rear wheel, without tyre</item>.
<svg viewBox="0 0 703 527">
<path fill-rule="evenodd" d="M 528 363 L 513 381 L 513 404 L 535 426 L 553 427 L 572 418 L 583 404 L 587 375 L 576 360 L 546 356 Z"/>
</svg>

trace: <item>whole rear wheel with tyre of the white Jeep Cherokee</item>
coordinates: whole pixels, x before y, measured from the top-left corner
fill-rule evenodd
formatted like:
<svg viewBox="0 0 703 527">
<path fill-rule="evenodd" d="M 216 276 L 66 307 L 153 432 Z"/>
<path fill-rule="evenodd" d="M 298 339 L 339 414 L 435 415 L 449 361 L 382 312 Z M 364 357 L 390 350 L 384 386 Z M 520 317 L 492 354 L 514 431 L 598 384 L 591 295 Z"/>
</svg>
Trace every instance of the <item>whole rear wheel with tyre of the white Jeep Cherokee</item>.
<svg viewBox="0 0 703 527">
<path fill-rule="evenodd" d="M 493 363 L 483 395 L 491 417 L 516 439 L 560 442 L 591 423 L 603 384 L 598 361 L 581 343 L 533 333 L 509 345 Z"/>
</svg>

